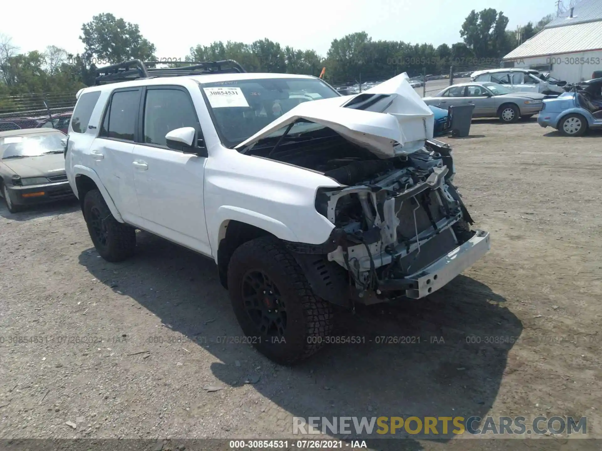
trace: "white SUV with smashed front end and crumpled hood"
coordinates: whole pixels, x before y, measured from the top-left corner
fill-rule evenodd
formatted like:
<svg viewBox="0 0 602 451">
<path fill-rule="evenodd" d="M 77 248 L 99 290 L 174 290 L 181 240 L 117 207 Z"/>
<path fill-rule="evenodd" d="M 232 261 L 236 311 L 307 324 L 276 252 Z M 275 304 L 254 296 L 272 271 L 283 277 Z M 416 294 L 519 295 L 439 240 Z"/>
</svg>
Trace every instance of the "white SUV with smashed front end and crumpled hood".
<svg viewBox="0 0 602 451">
<path fill-rule="evenodd" d="M 435 292 L 489 235 L 470 229 L 407 80 L 340 96 L 234 61 L 99 69 L 65 143 L 96 250 L 124 260 L 141 229 L 211 257 L 249 342 L 279 363 L 329 342 L 332 304 Z"/>
</svg>

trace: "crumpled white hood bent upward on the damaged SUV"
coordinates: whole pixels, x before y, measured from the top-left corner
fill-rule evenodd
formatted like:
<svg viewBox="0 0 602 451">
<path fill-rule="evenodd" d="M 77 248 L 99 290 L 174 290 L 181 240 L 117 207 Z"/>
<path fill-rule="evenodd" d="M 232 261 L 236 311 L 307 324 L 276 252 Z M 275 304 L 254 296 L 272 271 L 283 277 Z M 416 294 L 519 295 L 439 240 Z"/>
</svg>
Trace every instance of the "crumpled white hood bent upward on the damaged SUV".
<svg viewBox="0 0 602 451">
<path fill-rule="evenodd" d="M 382 112 L 344 106 L 365 94 L 388 94 L 391 100 Z M 361 94 L 300 103 L 238 144 L 236 149 L 253 146 L 298 119 L 329 127 L 380 158 L 408 155 L 421 149 L 424 141 L 433 137 L 433 112 L 410 86 L 408 75 L 402 73 Z"/>
</svg>

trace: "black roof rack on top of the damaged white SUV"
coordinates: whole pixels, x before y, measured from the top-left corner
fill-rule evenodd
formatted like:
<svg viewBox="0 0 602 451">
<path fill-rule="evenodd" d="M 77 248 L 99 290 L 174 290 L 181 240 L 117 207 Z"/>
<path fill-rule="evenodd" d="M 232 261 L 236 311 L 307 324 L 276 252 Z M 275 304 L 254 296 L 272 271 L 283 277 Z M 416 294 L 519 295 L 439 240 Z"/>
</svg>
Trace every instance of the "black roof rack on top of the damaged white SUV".
<svg viewBox="0 0 602 451">
<path fill-rule="evenodd" d="M 183 67 L 158 69 L 157 64 L 187 64 Z M 228 67 L 229 66 L 229 67 Z M 206 75 L 211 73 L 247 72 L 234 60 L 223 61 L 125 61 L 96 69 L 96 85 L 130 81 L 138 78 L 177 77 L 181 75 Z"/>
</svg>

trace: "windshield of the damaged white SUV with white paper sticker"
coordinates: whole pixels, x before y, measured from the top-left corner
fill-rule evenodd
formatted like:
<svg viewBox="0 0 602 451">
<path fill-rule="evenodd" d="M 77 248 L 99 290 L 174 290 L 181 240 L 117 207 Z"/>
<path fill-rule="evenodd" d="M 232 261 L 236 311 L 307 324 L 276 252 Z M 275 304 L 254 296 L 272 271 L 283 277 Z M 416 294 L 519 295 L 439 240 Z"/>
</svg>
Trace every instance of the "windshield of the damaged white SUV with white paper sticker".
<svg viewBox="0 0 602 451">
<path fill-rule="evenodd" d="M 226 147 L 235 147 L 302 102 L 338 97 L 340 94 L 320 79 L 267 78 L 204 83 L 200 90 L 207 99 L 217 133 Z M 297 123 L 288 132 L 322 128 Z M 287 127 L 270 136 L 284 133 Z"/>
</svg>

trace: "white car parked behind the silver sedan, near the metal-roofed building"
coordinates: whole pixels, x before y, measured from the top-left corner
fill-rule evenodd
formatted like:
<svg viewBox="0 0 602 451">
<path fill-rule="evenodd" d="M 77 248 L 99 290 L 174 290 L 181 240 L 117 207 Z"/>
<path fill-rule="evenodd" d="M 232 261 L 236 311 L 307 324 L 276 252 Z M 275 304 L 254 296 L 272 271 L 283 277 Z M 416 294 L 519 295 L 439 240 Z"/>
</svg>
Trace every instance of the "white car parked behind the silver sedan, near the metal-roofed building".
<svg viewBox="0 0 602 451">
<path fill-rule="evenodd" d="M 562 87 L 540 79 L 536 75 L 537 73 L 536 70 L 529 69 L 486 69 L 473 72 L 470 78 L 472 81 L 498 83 L 509 90 L 517 92 L 546 95 L 565 92 Z"/>
</svg>

